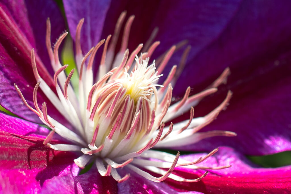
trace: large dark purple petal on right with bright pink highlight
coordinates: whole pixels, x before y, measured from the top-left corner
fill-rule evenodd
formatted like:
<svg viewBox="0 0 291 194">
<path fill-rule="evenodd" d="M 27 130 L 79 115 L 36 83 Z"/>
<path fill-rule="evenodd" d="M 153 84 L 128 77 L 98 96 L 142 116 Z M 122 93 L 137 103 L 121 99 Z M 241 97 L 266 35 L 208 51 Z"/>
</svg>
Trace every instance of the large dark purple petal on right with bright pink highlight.
<svg viewBox="0 0 291 194">
<path fill-rule="evenodd" d="M 242 1 L 222 28 L 213 29 L 213 34 L 217 31 L 219 34 L 208 36 L 211 39 L 208 42 L 204 40 L 207 44 L 191 42 L 197 36 L 196 31 L 190 33 L 194 34 L 192 39 L 188 38 L 192 49 L 188 64 L 174 88 L 175 94 L 182 96 L 187 86 L 193 88 L 193 94 L 197 93 L 210 85 L 226 67 L 230 67 L 232 74 L 228 84 L 195 107 L 195 115 L 209 113 L 222 102 L 226 91 L 232 90 L 233 98 L 227 110 L 201 131 L 228 130 L 236 132 L 238 136 L 205 139 L 195 145 L 177 149 L 210 151 L 227 145 L 252 155 L 273 154 L 291 149 L 289 3 L 290 1 Z M 185 12 L 180 14 L 183 13 Z M 201 15 L 199 11 L 197 14 Z M 208 16 L 209 19 L 212 18 L 211 13 Z M 193 20 L 193 24 L 188 21 L 188 25 L 185 25 L 188 27 L 184 28 L 199 26 L 200 23 L 197 24 L 196 20 Z M 203 25 L 207 24 L 203 22 Z M 207 35 L 204 27 L 200 29 L 201 37 L 204 37 L 204 33 Z M 168 31 L 168 34 L 171 33 L 170 29 Z"/>
</svg>

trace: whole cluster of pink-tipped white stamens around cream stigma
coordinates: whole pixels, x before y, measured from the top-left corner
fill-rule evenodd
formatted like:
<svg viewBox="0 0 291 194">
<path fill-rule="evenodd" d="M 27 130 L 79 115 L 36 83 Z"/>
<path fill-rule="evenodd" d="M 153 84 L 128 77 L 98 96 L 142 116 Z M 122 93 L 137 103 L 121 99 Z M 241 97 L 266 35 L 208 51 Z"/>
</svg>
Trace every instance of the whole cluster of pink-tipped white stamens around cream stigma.
<svg viewBox="0 0 291 194">
<path fill-rule="evenodd" d="M 228 92 L 224 101 L 209 114 L 194 118 L 193 106 L 198 104 L 203 97 L 217 91 L 216 87 L 226 81 L 230 73 L 229 69 L 227 68 L 212 85 L 196 95 L 189 96 L 190 87 L 188 87 L 184 97 L 173 103 L 173 86 L 186 63 L 190 47 L 188 46 L 184 50 L 179 66 L 174 65 L 164 83 L 158 84 L 159 77 L 163 76 L 161 72 L 173 53 L 181 49 L 184 42 L 172 46 L 157 60 L 152 60 L 152 53 L 159 45 L 159 41 L 152 42 L 157 33 L 157 29 L 155 29 L 145 46 L 140 44 L 129 54 L 127 43 L 130 27 L 134 20 L 134 16 L 130 16 L 125 24 L 120 51 L 115 53 L 125 16 L 126 12 L 120 15 L 112 38 L 109 35 L 106 39 L 101 40 L 85 56 L 82 55 L 80 38 L 84 19 L 80 20 L 75 38 L 77 70 L 73 69 L 68 75 L 64 72 L 68 65 L 61 65 L 58 57 L 59 46 L 68 33 L 63 33 L 52 49 L 50 21 L 47 20 L 46 45 L 55 72 L 53 76 L 55 88 L 50 88 L 38 74 L 34 50 L 31 51 L 31 64 L 37 81 L 32 94 L 35 108 L 26 102 L 15 84 L 24 104 L 52 129 L 44 140 L 44 144 L 55 150 L 79 152 L 80 156 L 74 162 L 80 168 L 93 162 L 100 175 L 112 176 L 118 182 L 126 181 L 131 172 L 136 172 L 155 182 L 163 181 L 166 178 L 175 181 L 196 182 L 205 177 L 207 171 L 194 179 L 185 179 L 172 172 L 175 167 L 179 166 L 203 170 L 230 167 L 197 165 L 215 154 L 218 149 L 214 149 L 196 161 L 180 159 L 179 152 L 172 155 L 152 150 L 152 148 L 189 145 L 213 136 L 236 135 L 230 131 L 198 132 L 212 122 L 227 106 L 231 92 Z M 102 56 L 95 77 L 92 68 L 95 63 L 93 62 L 97 51 L 102 46 Z M 141 52 L 142 49 L 143 52 Z M 150 61 L 152 62 L 150 63 Z M 79 77 L 77 88 L 70 84 L 73 74 L 78 74 Z M 36 97 L 39 88 L 55 106 L 56 111 L 59 111 L 70 122 L 73 129 L 65 127 L 56 118 L 51 118 L 47 113 L 46 102 L 39 107 Z M 172 119 L 189 110 L 188 120 L 175 124 L 171 122 Z M 68 143 L 49 143 L 55 133 L 65 138 Z M 156 177 L 152 174 L 161 176 Z"/>
</svg>

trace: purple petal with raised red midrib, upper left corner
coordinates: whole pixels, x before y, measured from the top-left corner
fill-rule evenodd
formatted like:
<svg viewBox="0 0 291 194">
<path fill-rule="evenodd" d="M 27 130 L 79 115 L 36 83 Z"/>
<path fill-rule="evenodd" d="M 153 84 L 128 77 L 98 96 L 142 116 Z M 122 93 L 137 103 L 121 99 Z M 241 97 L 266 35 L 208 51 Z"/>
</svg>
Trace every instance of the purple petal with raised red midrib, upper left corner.
<svg viewBox="0 0 291 194">
<path fill-rule="evenodd" d="M 56 9 L 54 2 L 44 2 L 46 2 L 47 4 L 40 4 L 40 6 L 45 6 L 45 11 L 42 12 L 42 15 L 38 16 L 38 19 L 43 19 L 43 25 L 45 25 L 46 18 L 49 15 L 52 15 L 52 18 L 54 18 L 53 15 L 58 15 L 56 14 L 56 12 L 50 11 L 51 9 Z M 30 105 L 33 104 L 33 88 L 36 84 L 36 81 L 33 76 L 30 52 L 32 47 L 36 47 L 36 49 L 41 51 L 40 53 L 47 53 L 43 52 L 44 50 L 46 50 L 45 44 L 43 44 L 43 42 L 45 41 L 45 29 L 37 29 L 38 27 L 40 27 L 40 24 L 37 25 L 34 22 L 38 22 L 38 19 L 36 19 L 37 17 L 35 17 L 32 12 L 26 13 L 28 8 L 32 9 L 33 3 L 25 4 L 22 1 L 0 3 L 0 104 L 7 110 L 15 113 L 20 117 L 34 122 L 40 122 L 38 117 L 23 104 L 22 100 L 19 98 L 19 95 L 14 88 L 14 83 L 16 83 L 20 90 L 23 92 L 23 95 L 26 98 L 27 102 Z M 17 13 L 19 13 L 19 15 L 17 15 Z M 22 17 L 23 14 L 25 15 L 25 17 Z M 13 16 L 15 16 L 16 19 L 14 19 Z M 59 22 L 60 21 L 57 20 L 57 24 L 55 25 L 62 26 L 62 22 Z M 30 26 L 31 23 L 33 23 L 32 26 Z M 24 29 L 24 31 L 22 31 L 22 28 Z M 52 28 L 54 28 L 54 26 L 52 26 Z M 56 27 L 57 31 L 58 29 L 59 28 Z M 56 33 L 60 33 L 57 31 Z M 33 36 L 34 34 L 30 34 L 32 32 L 38 34 L 39 36 Z M 43 37 L 42 41 L 39 40 L 40 36 Z M 33 42 L 33 37 L 35 38 L 35 41 L 39 44 L 35 44 Z M 42 47 L 38 45 L 41 45 Z M 42 57 L 42 55 L 40 56 Z M 43 57 L 42 59 L 45 60 L 45 64 L 50 63 L 49 60 Z M 51 75 L 49 75 L 49 73 L 45 69 L 44 64 L 38 56 L 36 56 L 36 60 L 40 75 L 50 86 L 52 86 L 54 83 Z M 55 111 L 55 108 L 41 92 L 38 93 L 38 102 L 40 104 L 43 102 L 47 102 L 49 115 L 55 115 L 55 118 L 59 118 L 65 123 L 63 117 L 57 111 Z"/>
</svg>

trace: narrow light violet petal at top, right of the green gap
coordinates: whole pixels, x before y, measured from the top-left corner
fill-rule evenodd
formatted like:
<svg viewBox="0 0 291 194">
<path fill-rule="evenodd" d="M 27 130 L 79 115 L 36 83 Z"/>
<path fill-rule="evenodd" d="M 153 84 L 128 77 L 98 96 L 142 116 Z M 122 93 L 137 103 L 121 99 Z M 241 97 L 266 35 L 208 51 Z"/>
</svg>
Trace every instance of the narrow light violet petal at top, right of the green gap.
<svg viewBox="0 0 291 194">
<path fill-rule="evenodd" d="M 100 41 L 105 16 L 111 1 L 69 1 L 65 0 L 64 8 L 68 20 L 70 34 L 76 36 L 76 28 L 80 19 L 84 18 L 81 31 L 81 47 L 87 53 Z"/>
</svg>

